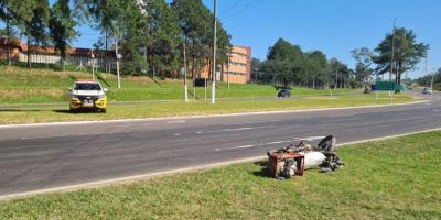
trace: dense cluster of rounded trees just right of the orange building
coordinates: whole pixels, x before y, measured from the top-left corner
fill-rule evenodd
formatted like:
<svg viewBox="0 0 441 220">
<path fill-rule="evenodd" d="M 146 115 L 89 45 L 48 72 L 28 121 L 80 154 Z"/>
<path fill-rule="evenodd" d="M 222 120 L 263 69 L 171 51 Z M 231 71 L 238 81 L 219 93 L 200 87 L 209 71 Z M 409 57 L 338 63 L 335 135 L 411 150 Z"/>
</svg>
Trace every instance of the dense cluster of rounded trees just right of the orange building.
<svg viewBox="0 0 441 220">
<path fill-rule="evenodd" d="M 267 61 L 251 62 L 254 79 L 277 86 L 310 88 L 354 87 L 353 72 L 346 64 L 327 61 L 321 51 L 303 52 L 299 45 L 279 38 L 269 47 Z"/>
</svg>

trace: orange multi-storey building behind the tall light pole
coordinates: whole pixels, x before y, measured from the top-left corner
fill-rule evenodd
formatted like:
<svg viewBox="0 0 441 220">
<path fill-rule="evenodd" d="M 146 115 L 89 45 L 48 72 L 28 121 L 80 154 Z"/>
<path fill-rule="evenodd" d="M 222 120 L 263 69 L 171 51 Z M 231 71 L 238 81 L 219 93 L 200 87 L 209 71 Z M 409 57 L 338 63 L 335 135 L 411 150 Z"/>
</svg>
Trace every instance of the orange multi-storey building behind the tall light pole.
<svg viewBox="0 0 441 220">
<path fill-rule="evenodd" d="M 233 46 L 229 62 L 220 64 L 216 72 L 216 80 L 233 84 L 246 84 L 251 78 L 251 48 L 247 46 Z M 201 73 L 201 78 L 208 78 L 209 67 L 206 66 Z"/>
</svg>

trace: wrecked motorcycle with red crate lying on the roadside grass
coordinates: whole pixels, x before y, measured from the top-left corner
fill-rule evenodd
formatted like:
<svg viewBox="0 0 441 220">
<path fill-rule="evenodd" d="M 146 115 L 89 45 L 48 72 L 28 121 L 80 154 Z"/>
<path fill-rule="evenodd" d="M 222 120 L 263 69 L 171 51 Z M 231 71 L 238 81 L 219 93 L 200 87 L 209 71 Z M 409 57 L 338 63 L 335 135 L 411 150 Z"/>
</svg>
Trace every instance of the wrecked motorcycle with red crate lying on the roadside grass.
<svg viewBox="0 0 441 220">
<path fill-rule="evenodd" d="M 335 154 L 336 138 L 327 135 L 318 145 L 301 141 L 282 148 L 267 152 L 268 170 L 271 177 L 278 179 L 302 176 L 304 169 L 320 167 L 320 170 L 333 172 L 344 163 Z"/>
</svg>

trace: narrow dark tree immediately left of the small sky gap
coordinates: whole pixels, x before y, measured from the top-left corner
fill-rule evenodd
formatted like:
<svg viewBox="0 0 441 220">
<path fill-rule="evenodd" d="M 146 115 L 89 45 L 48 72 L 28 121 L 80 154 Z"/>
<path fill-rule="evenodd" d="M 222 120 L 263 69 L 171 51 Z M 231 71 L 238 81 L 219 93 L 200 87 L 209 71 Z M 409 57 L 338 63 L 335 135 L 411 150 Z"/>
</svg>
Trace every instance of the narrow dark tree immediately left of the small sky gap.
<svg viewBox="0 0 441 220">
<path fill-rule="evenodd" d="M 69 43 L 78 35 L 78 32 L 75 31 L 77 21 L 71 10 L 69 0 L 57 0 L 50 12 L 50 36 L 54 47 L 60 52 L 60 62 L 63 69 Z"/>
</svg>

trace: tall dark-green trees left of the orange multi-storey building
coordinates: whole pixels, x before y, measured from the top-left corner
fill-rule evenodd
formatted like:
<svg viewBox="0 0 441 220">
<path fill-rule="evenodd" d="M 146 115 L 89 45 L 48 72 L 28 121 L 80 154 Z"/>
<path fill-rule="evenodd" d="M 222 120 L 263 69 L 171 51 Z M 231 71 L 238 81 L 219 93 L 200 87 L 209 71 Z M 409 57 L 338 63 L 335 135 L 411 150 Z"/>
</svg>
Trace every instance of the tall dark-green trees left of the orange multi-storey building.
<svg viewBox="0 0 441 220">
<path fill-rule="evenodd" d="M 184 66 L 184 48 L 191 77 L 212 62 L 214 15 L 202 0 L 55 0 L 52 6 L 49 0 L 0 0 L 0 21 L 7 38 L 53 45 L 61 63 L 80 36 L 80 24 L 99 31 L 94 43 L 98 55 L 107 56 L 107 51 L 118 47 L 126 74 L 176 75 Z M 217 62 L 224 63 L 230 35 L 216 22 Z"/>
</svg>

